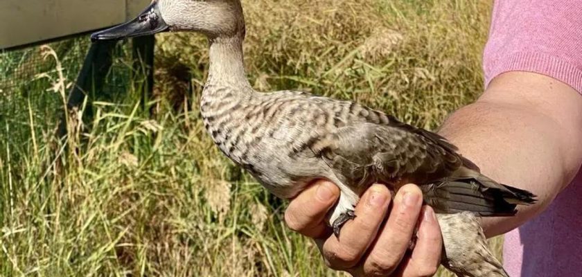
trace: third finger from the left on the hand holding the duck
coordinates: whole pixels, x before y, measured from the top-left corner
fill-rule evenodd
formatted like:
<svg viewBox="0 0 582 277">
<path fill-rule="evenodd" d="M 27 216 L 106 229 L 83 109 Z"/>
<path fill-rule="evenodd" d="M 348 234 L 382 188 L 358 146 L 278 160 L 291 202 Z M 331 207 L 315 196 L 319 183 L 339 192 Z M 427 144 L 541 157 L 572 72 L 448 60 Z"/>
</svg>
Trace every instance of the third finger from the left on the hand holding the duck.
<svg viewBox="0 0 582 277">
<path fill-rule="evenodd" d="M 422 193 L 417 186 L 408 184 L 398 190 L 388 220 L 364 261 L 365 276 L 387 276 L 398 267 L 414 233 L 421 206 Z"/>
</svg>

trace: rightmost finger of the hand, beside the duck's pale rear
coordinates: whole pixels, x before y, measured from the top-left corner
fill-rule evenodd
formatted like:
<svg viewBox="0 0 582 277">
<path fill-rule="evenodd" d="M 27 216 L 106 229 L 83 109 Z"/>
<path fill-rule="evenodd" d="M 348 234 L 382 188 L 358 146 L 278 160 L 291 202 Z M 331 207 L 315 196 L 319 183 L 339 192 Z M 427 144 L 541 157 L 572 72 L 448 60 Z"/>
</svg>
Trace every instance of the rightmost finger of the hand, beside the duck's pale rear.
<svg viewBox="0 0 582 277">
<path fill-rule="evenodd" d="M 412 255 L 400 265 L 397 276 L 433 276 L 439 269 L 443 238 L 439 222 L 429 206 L 423 206 L 417 236 L 416 247 Z"/>
</svg>

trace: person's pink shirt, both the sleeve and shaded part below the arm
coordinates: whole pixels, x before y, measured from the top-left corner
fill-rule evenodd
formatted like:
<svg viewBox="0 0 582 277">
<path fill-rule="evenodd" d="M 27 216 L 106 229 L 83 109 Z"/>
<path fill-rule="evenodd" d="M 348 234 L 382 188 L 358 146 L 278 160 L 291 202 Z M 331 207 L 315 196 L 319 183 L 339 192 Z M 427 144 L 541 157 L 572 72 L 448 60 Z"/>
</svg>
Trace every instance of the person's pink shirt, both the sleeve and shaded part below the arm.
<svg viewBox="0 0 582 277">
<path fill-rule="evenodd" d="M 582 0 L 495 1 L 483 64 L 486 84 L 531 71 L 582 92 Z M 582 171 L 546 211 L 506 234 L 503 258 L 513 277 L 582 276 Z"/>
</svg>

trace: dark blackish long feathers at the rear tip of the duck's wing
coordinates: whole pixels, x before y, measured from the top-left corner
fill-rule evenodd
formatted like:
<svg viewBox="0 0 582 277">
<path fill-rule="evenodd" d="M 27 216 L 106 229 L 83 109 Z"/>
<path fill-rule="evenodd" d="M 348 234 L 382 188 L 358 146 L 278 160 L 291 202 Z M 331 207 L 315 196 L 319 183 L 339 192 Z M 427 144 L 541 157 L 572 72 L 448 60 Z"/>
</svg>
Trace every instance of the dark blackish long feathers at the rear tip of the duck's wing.
<svg viewBox="0 0 582 277">
<path fill-rule="evenodd" d="M 499 186 L 500 188 L 497 188 Z M 422 186 L 426 204 L 437 213 L 470 211 L 481 216 L 511 216 L 518 204 L 535 202 L 533 194 L 511 186 L 485 186 L 473 178 Z"/>
</svg>

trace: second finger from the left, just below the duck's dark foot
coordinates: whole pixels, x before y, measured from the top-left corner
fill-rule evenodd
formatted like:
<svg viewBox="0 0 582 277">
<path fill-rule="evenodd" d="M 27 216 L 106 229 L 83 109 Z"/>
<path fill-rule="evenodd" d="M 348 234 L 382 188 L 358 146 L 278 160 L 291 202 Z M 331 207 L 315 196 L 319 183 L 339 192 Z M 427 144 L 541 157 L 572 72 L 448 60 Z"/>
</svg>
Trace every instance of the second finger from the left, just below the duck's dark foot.
<svg viewBox="0 0 582 277">
<path fill-rule="evenodd" d="M 324 242 L 324 258 L 333 269 L 355 266 L 378 235 L 390 204 L 390 191 L 385 185 L 373 185 L 355 207 L 356 217 L 342 227 L 340 238 L 331 236 Z"/>
</svg>

